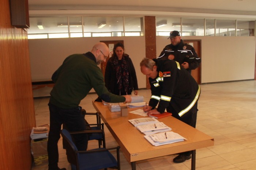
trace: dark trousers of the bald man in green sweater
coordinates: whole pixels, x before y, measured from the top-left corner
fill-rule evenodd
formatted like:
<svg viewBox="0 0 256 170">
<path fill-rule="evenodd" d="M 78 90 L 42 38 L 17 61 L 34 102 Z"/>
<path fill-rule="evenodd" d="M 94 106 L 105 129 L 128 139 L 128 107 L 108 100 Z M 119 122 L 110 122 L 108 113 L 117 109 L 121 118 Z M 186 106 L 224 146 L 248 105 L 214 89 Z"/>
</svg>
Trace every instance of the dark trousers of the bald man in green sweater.
<svg viewBox="0 0 256 170">
<path fill-rule="evenodd" d="M 58 169 L 59 152 L 58 141 L 60 139 L 61 125 L 65 123 L 69 131 L 85 130 L 85 121 L 80 113 L 80 108 L 63 109 L 51 103 L 48 104 L 50 111 L 50 131 L 48 135 L 47 151 L 48 151 L 48 166 L 49 170 Z M 88 135 L 76 134 L 73 135 L 74 142 L 79 151 L 87 149 Z"/>
</svg>

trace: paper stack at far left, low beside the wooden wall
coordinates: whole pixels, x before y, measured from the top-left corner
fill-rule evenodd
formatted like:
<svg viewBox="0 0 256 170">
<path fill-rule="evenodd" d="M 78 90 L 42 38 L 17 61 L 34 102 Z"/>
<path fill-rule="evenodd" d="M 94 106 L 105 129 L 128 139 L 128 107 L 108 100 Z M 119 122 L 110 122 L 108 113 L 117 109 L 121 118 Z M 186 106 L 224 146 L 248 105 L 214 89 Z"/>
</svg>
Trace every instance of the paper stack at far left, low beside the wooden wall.
<svg viewBox="0 0 256 170">
<path fill-rule="evenodd" d="M 41 125 L 39 127 L 33 127 L 31 130 L 30 138 L 31 140 L 34 139 L 41 139 L 41 138 L 48 138 L 49 134 L 49 125 Z"/>
</svg>

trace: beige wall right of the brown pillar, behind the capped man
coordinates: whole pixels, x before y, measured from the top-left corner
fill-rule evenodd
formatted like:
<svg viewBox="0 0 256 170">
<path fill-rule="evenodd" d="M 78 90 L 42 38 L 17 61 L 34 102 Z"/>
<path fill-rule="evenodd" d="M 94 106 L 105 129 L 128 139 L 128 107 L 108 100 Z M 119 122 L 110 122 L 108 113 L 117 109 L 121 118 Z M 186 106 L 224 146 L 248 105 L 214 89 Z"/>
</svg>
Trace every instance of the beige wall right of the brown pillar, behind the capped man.
<svg viewBox="0 0 256 170">
<path fill-rule="evenodd" d="M 254 79 L 255 36 L 184 36 L 202 40 L 201 82 L 222 82 Z M 157 55 L 170 40 L 157 36 Z"/>
</svg>

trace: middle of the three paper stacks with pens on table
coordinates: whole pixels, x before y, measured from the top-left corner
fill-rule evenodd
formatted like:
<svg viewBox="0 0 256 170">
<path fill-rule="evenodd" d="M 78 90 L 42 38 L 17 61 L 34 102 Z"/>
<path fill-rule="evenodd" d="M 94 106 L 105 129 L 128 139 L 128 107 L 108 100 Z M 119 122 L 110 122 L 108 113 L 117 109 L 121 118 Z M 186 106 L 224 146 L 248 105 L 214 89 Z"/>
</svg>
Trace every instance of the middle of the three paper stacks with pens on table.
<svg viewBox="0 0 256 170">
<path fill-rule="evenodd" d="M 145 135 L 151 135 L 159 132 L 166 132 L 172 130 L 172 128 L 166 126 L 162 122 L 138 125 L 137 129 Z"/>
</svg>

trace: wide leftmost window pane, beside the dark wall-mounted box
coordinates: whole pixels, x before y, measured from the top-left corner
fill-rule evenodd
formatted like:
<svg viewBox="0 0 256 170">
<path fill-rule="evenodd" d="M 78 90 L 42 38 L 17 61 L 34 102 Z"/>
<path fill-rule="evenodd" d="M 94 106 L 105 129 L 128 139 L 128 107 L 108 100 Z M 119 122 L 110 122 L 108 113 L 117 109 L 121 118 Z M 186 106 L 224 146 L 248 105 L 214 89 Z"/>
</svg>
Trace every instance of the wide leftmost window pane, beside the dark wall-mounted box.
<svg viewBox="0 0 256 170">
<path fill-rule="evenodd" d="M 68 32 L 68 18 L 67 17 L 38 17 L 30 18 L 30 28 L 27 29 L 28 34 L 42 34 L 42 33 L 63 33 Z M 43 29 L 39 29 L 41 25 Z"/>
</svg>

